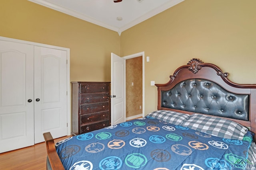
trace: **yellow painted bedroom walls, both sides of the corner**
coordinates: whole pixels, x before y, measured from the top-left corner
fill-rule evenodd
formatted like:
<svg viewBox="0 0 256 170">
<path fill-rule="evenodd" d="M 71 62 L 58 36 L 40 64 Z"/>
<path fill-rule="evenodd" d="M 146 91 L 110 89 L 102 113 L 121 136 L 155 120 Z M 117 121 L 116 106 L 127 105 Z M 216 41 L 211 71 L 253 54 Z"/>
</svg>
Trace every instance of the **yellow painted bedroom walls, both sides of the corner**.
<svg viewBox="0 0 256 170">
<path fill-rule="evenodd" d="M 1 0 L 0 36 L 70 48 L 71 81 L 110 81 L 110 53 L 145 51 L 145 113 L 157 108 L 150 81 L 200 58 L 230 80 L 256 83 L 256 0 L 185 0 L 122 32 L 94 25 L 27 0 Z M 146 58 L 146 57 L 145 57 Z"/>
</svg>

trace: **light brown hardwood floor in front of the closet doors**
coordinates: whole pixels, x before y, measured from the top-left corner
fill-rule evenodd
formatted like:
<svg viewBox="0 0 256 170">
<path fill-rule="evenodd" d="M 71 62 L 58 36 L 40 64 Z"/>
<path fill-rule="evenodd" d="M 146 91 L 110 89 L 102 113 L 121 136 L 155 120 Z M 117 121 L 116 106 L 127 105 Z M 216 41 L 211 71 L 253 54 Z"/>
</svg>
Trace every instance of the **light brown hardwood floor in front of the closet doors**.
<svg viewBox="0 0 256 170">
<path fill-rule="evenodd" d="M 65 139 L 54 139 L 55 143 Z M 31 147 L 0 154 L 0 170 L 46 170 L 46 146 L 38 143 Z"/>
</svg>

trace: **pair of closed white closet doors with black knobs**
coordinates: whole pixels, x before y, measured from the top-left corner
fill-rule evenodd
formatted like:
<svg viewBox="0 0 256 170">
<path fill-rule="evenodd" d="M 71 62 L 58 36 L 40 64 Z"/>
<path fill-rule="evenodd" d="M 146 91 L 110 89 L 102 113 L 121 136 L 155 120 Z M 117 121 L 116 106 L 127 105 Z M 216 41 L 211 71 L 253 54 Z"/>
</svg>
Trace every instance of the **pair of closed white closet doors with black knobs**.
<svg viewBox="0 0 256 170">
<path fill-rule="evenodd" d="M 67 135 L 66 51 L 0 41 L 0 153 Z"/>
</svg>

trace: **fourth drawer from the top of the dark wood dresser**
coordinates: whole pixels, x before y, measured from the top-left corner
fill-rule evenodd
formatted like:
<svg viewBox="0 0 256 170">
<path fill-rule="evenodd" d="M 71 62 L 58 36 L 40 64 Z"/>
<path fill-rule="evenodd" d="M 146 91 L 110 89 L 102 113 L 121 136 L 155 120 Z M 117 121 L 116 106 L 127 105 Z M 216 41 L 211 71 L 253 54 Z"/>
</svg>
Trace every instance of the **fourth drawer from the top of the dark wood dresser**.
<svg viewBox="0 0 256 170">
<path fill-rule="evenodd" d="M 94 123 L 96 121 L 107 121 L 108 119 L 109 119 L 109 111 L 81 115 L 81 125 Z"/>
</svg>

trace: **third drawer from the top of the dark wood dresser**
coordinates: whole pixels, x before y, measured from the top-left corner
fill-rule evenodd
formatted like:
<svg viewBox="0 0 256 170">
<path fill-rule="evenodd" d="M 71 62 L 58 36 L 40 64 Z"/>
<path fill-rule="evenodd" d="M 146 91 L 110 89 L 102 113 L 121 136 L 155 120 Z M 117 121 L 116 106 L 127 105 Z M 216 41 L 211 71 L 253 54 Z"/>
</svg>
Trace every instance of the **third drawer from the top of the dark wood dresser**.
<svg viewBox="0 0 256 170">
<path fill-rule="evenodd" d="M 81 115 L 102 112 L 102 111 L 108 111 L 108 110 L 109 110 L 108 102 L 80 105 L 80 114 Z"/>
</svg>

